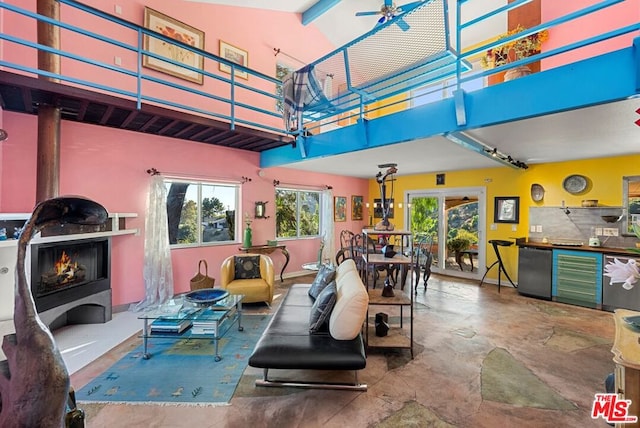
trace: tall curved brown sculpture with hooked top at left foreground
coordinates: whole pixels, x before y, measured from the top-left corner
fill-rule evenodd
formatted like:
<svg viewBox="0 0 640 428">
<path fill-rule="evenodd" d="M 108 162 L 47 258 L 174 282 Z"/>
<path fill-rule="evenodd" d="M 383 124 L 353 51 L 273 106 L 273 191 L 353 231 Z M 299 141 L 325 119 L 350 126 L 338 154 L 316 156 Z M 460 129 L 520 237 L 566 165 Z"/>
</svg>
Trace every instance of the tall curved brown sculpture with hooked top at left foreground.
<svg viewBox="0 0 640 428">
<path fill-rule="evenodd" d="M 69 373 L 53 335 L 40 320 L 25 273 L 27 246 L 33 235 L 51 225 L 99 225 L 103 206 L 79 196 L 41 202 L 18 241 L 13 322 L 15 334 L 4 337 L 0 361 L 0 427 L 64 427 Z"/>
</svg>

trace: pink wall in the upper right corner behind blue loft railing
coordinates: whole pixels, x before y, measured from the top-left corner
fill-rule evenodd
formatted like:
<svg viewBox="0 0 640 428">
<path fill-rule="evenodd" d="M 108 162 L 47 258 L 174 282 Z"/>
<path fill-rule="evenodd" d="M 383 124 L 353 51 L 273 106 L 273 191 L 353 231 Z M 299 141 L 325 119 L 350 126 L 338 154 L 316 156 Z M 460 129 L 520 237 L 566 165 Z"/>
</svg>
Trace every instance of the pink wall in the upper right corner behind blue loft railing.
<svg viewBox="0 0 640 428">
<path fill-rule="evenodd" d="M 576 10 L 584 9 L 595 3 L 598 3 L 598 1 L 543 0 L 542 22 L 547 22 Z M 549 31 L 549 40 L 545 42 L 544 49 L 555 49 L 594 35 L 603 34 L 613 29 L 634 24 L 638 21 L 640 21 L 640 0 L 626 0 L 595 14 L 586 15 L 580 19 L 553 27 Z M 544 68 L 549 69 L 601 55 L 605 52 L 629 47 L 632 44 L 633 38 L 638 37 L 638 35 L 638 32 L 630 33 L 598 44 L 585 46 L 584 48 L 573 50 L 562 55 L 556 55 L 543 61 Z"/>
</svg>

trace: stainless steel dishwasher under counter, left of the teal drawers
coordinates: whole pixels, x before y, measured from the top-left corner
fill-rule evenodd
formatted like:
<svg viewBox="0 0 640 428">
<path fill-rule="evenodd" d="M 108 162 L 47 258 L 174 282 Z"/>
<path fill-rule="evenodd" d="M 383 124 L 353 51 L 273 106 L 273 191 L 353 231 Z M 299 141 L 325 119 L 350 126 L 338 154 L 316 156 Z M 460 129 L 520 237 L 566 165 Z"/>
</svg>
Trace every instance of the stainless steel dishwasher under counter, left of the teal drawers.
<svg viewBox="0 0 640 428">
<path fill-rule="evenodd" d="M 518 292 L 551 300 L 552 251 L 520 247 L 518 251 Z"/>
</svg>

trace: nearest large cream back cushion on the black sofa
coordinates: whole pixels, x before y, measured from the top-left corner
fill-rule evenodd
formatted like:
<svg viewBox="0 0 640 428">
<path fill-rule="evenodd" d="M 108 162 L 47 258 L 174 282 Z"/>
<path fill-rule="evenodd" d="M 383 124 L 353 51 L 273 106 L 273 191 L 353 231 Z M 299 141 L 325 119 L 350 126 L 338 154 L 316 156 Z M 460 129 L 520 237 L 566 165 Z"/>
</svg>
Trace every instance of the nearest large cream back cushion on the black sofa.
<svg viewBox="0 0 640 428">
<path fill-rule="evenodd" d="M 337 340 L 351 340 L 362 331 L 369 294 L 356 271 L 338 278 L 338 299 L 329 318 L 329 333 Z"/>
</svg>

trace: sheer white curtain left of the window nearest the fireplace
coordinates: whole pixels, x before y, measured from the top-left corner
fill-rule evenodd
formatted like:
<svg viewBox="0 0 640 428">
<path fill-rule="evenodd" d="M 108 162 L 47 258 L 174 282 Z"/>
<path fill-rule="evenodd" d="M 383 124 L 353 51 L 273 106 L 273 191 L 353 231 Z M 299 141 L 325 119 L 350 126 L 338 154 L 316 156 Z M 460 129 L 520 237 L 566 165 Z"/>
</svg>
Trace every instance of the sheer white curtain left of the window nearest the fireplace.
<svg viewBox="0 0 640 428">
<path fill-rule="evenodd" d="M 173 269 L 167 222 L 167 189 L 162 176 L 151 177 L 144 236 L 145 298 L 132 305 L 133 311 L 161 305 L 173 296 Z"/>
</svg>

